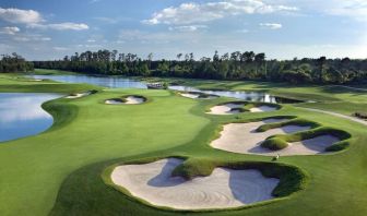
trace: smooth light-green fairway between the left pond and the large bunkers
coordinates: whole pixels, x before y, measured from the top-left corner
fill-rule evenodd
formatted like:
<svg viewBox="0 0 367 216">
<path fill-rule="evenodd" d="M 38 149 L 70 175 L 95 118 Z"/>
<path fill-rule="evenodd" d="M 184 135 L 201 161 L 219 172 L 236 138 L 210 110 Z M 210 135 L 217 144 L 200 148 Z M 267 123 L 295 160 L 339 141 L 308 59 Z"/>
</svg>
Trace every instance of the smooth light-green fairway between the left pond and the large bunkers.
<svg viewBox="0 0 367 216">
<path fill-rule="evenodd" d="M 121 94 L 151 101 L 103 104 Z M 45 104 L 57 118 L 54 128 L 0 145 L 0 215 L 47 215 L 61 182 L 75 169 L 189 142 L 209 122 L 190 113 L 194 105 L 166 91 L 115 91 Z"/>
</svg>

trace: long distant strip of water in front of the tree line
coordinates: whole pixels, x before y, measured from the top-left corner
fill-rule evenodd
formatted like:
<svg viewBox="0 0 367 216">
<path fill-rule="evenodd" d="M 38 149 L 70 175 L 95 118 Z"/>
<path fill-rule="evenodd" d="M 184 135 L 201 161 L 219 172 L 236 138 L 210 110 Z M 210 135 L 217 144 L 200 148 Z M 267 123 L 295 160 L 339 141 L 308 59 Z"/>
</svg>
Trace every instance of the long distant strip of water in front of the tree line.
<svg viewBox="0 0 367 216">
<path fill-rule="evenodd" d="M 104 87 L 122 87 L 122 88 L 147 88 L 146 83 L 131 80 L 121 76 L 95 76 L 95 75 L 31 75 L 33 79 L 49 79 L 67 83 L 88 83 Z M 218 95 L 223 97 L 232 97 L 236 99 L 244 99 L 249 101 L 264 101 L 273 104 L 294 104 L 301 103 L 284 97 L 277 97 L 262 92 L 233 92 L 233 91 L 201 91 L 189 86 L 169 86 L 170 89 L 185 91 L 185 92 L 200 92 L 205 94 Z"/>
</svg>

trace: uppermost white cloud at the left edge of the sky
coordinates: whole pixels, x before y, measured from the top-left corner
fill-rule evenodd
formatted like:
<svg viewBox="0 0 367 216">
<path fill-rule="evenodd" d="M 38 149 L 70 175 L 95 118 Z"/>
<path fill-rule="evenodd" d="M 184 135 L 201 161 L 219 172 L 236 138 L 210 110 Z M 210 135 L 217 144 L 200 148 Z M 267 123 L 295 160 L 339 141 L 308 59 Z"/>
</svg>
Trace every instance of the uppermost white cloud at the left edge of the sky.
<svg viewBox="0 0 367 216">
<path fill-rule="evenodd" d="M 21 10 L 21 9 L 3 9 L 0 8 L 0 19 L 10 23 L 40 23 L 43 21 L 42 15 L 34 10 Z"/>
</svg>

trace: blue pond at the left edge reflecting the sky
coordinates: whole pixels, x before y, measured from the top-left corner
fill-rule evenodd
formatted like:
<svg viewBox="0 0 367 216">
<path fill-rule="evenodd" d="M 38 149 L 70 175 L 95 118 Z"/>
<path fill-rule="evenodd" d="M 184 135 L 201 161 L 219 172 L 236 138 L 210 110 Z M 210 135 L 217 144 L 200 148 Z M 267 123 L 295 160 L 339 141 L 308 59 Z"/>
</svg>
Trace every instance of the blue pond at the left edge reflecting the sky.
<svg viewBox="0 0 367 216">
<path fill-rule="evenodd" d="M 34 135 L 52 125 L 40 106 L 56 94 L 0 93 L 0 142 Z"/>
</svg>

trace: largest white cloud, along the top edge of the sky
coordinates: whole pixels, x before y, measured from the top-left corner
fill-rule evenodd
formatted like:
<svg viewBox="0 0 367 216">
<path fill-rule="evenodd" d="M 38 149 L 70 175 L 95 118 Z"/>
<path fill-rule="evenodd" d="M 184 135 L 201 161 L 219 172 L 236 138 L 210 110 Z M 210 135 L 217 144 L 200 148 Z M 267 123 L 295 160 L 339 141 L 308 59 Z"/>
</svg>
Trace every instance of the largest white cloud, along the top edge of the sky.
<svg viewBox="0 0 367 216">
<path fill-rule="evenodd" d="M 262 0 L 226 0 L 206 3 L 182 3 L 156 12 L 150 20 L 142 23 L 156 24 L 192 24 L 223 19 L 229 15 L 273 13 L 280 11 L 296 11 L 297 8 L 282 4 L 267 4 Z"/>
</svg>

